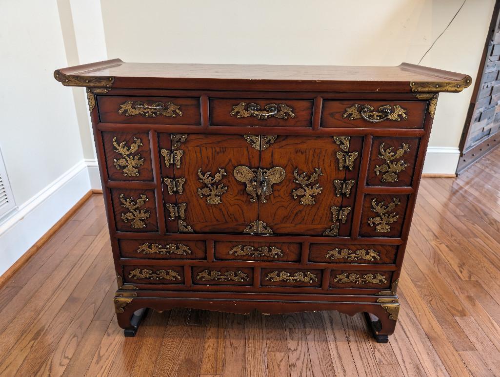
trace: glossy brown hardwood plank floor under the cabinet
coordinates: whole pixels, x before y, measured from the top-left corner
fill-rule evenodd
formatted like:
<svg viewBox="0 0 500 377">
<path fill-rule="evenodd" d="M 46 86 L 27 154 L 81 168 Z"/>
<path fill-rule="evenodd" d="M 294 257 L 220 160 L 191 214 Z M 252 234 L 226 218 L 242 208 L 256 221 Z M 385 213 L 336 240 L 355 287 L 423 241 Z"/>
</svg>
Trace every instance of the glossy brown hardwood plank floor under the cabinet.
<svg viewBox="0 0 500 377">
<path fill-rule="evenodd" d="M 500 149 L 422 180 L 387 344 L 337 312 L 150 311 L 125 338 L 115 289 L 93 195 L 0 290 L 0 374 L 500 375 Z"/>
</svg>

